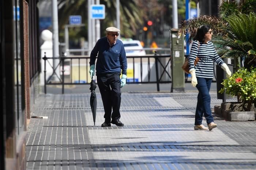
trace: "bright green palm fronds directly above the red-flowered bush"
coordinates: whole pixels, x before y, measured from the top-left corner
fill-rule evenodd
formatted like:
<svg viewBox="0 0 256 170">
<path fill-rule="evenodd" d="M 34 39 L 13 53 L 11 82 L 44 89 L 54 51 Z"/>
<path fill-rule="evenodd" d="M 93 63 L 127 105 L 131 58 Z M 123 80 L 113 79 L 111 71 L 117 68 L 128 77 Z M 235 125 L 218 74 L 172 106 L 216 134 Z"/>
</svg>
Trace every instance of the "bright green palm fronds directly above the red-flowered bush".
<svg viewBox="0 0 256 170">
<path fill-rule="evenodd" d="M 222 45 L 217 49 L 225 58 L 244 58 L 244 67 L 256 67 L 256 14 L 238 13 L 226 18 L 228 25 L 223 27 L 225 35 L 215 36 L 212 41 Z M 230 47 L 230 48 L 226 48 Z"/>
</svg>

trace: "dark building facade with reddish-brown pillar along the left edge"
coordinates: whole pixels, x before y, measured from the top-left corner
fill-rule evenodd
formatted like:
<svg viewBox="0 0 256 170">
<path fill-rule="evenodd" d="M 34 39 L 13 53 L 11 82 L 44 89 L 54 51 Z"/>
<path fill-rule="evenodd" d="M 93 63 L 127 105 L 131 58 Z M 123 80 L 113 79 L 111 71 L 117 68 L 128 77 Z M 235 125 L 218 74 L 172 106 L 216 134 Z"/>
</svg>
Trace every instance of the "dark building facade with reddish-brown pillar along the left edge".
<svg viewBox="0 0 256 170">
<path fill-rule="evenodd" d="M 39 94 L 38 0 L 0 1 L 0 169 L 26 169 L 26 126 Z"/>
</svg>

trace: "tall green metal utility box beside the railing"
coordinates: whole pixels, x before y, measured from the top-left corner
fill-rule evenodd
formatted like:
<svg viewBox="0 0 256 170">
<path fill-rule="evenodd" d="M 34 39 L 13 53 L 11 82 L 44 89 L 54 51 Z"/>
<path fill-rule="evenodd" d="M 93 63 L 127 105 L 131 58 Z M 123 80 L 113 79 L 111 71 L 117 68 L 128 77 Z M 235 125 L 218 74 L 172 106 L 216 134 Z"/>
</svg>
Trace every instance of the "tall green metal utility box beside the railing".
<svg viewBox="0 0 256 170">
<path fill-rule="evenodd" d="M 172 71 L 172 88 L 171 92 L 185 91 L 185 73 L 181 66 L 185 61 L 184 56 L 184 35 L 178 36 L 178 30 L 172 29 L 170 31 L 171 41 L 171 71 Z"/>
</svg>

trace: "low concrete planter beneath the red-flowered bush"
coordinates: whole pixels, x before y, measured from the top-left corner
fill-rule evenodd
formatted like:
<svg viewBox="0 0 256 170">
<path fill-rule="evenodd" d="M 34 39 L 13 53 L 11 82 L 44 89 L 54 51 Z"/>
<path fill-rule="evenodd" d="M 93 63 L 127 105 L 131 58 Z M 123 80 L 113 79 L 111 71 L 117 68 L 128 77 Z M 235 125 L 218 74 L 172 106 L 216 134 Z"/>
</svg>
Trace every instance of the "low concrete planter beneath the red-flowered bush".
<svg viewBox="0 0 256 170">
<path fill-rule="evenodd" d="M 214 106 L 214 112 L 217 116 L 229 121 L 249 121 L 255 120 L 256 108 L 252 104 L 250 111 L 242 110 L 241 102 L 223 102 L 221 106 Z"/>
</svg>

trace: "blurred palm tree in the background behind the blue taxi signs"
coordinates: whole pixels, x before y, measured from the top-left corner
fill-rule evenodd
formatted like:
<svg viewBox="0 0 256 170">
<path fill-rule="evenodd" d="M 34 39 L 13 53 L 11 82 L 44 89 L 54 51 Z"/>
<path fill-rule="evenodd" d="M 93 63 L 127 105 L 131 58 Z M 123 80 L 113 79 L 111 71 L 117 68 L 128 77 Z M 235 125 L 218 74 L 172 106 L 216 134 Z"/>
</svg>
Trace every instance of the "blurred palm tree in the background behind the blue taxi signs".
<svg viewBox="0 0 256 170">
<path fill-rule="evenodd" d="M 105 19 L 101 20 L 102 33 L 106 27 L 115 25 L 116 21 L 116 1 L 115 0 L 100 0 L 100 4 L 105 5 Z M 84 29 L 81 33 L 87 38 L 87 0 L 58 0 L 59 6 L 59 28 L 63 30 L 64 25 L 68 23 L 70 15 L 81 15 Z M 120 29 L 122 36 L 131 37 L 142 24 L 142 11 L 138 8 L 136 0 L 120 0 Z M 104 29 L 103 29 L 104 28 Z"/>
</svg>

